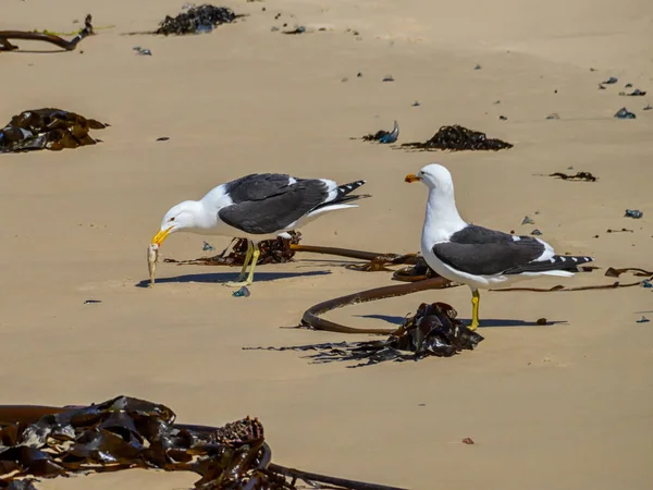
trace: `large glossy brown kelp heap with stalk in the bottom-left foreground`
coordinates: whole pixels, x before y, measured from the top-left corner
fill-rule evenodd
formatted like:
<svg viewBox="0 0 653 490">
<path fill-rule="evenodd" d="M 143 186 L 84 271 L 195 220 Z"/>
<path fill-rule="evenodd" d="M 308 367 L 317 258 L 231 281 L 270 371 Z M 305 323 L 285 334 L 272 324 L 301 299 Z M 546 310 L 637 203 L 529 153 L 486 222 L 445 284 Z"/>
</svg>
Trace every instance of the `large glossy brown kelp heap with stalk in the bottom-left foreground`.
<svg viewBox="0 0 653 490">
<path fill-rule="evenodd" d="M 297 479 L 337 489 L 393 490 L 271 463 L 256 418 L 224 427 L 174 419 L 164 405 L 127 396 L 64 408 L 0 406 L 0 489 L 32 490 L 25 477 L 160 468 L 200 475 L 198 490 L 296 490 Z"/>
</svg>

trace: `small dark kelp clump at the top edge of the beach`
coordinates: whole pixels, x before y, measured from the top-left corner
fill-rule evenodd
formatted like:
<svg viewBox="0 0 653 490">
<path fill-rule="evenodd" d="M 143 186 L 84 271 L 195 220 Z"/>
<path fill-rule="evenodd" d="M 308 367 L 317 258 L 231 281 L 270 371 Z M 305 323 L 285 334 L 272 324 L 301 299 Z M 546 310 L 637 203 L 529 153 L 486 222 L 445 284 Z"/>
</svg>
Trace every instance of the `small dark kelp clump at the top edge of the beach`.
<svg viewBox="0 0 653 490">
<path fill-rule="evenodd" d="M 226 7 L 210 4 L 192 7 L 186 12 L 182 12 L 174 17 L 165 15 L 165 19 L 161 21 L 155 34 L 182 36 L 206 33 L 211 32 L 218 25 L 230 24 L 242 16 L 236 15 L 233 10 Z"/>
</svg>

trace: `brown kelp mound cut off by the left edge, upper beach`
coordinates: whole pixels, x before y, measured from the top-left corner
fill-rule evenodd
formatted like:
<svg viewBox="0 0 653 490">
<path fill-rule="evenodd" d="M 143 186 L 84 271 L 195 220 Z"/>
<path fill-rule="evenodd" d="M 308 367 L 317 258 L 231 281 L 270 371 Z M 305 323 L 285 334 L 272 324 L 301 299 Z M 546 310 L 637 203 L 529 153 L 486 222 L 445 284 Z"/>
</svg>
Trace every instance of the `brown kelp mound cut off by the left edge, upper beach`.
<svg viewBox="0 0 653 490">
<path fill-rule="evenodd" d="M 102 130 L 108 125 L 61 109 L 24 111 L 0 130 L 0 152 L 56 151 L 95 145 L 98 139 L 94 139 L 89 131 Z"/>
</svg>

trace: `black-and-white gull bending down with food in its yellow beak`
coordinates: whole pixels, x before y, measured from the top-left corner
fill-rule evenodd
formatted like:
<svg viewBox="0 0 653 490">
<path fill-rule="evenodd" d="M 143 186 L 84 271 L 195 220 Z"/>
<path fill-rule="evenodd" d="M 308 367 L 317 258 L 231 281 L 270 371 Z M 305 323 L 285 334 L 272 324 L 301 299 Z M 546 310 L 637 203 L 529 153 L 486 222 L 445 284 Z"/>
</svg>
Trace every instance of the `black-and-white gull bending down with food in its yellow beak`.
<svg viewBox="0 0 653 490">
<path fill-rule="evenodd" d="M 225 235 L 247 238 L 247 254 L 237 282 L 251 284 L 254 269 L 263 240 L 282 236 L 319 216 L 337 209 L 356 208 L 350 204 L 368 194 L 350 195 L 366 181 L 337 185 L 328 179 L 297 179 L 282 173 L 252 173 L 209 191 L 200 200 L 186 200 L 172 207 L 161 221 L 152 245 L 161 246 L 172 233 Z M 249 277 L 245 281 L 247 265 Z"/>
</svg>

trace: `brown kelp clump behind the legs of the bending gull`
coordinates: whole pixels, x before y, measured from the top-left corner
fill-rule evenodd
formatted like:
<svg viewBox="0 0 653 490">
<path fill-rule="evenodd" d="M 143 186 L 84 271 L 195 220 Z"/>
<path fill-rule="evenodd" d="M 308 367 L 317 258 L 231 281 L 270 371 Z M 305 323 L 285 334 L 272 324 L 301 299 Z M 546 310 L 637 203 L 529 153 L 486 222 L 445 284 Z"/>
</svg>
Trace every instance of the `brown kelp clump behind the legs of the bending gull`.
<svg viewBox="0 0 653 490">
<path fill-rule="evenodd" d="M 295 250 L 292 248 L 292 245 L 297 245 L 299 243 L 301 233 L 289 231 L 288 235 L 289 238 L 282 238 L 279 236 L 274 240 L 266 240 L 259 243 L 261 255 L 259 255 L 259 259 L 256 264 L 261 266 L 264 264 L 285 264 L 292 261 L 295 256 Z M 232 247 L 232 250 L 229 254 L 227 246 L 222 253 L 213 257 L 200 257 L 194 260 L 164 259 L 163 261 L 197 266 L 242 266 L 247 254 L 247 240 L 233 238 L 230 246 Z"/>
</svg>

